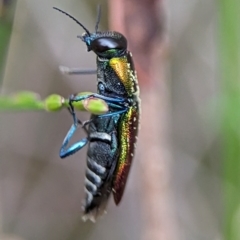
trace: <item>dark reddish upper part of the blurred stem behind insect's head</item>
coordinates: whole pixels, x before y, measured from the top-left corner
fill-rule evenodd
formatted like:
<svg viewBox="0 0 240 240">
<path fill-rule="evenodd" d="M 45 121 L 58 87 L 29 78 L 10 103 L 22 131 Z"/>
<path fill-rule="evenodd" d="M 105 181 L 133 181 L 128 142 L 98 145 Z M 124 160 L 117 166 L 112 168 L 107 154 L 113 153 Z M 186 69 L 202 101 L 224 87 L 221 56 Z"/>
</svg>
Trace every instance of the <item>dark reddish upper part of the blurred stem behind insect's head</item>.
<svg viewBox="0 0 240 240">
<path fill-rule="evenodd" d="M 148 85 L 151 81 L 151 59 L 156 56 L 156 52 L 159 53 L 163 35 L 164 11 L 161 1 L 109 1 L 109 5 L 110 27 L 127 36 L 128 48 L 134 55 L 139 81 Z"/>
</svg>

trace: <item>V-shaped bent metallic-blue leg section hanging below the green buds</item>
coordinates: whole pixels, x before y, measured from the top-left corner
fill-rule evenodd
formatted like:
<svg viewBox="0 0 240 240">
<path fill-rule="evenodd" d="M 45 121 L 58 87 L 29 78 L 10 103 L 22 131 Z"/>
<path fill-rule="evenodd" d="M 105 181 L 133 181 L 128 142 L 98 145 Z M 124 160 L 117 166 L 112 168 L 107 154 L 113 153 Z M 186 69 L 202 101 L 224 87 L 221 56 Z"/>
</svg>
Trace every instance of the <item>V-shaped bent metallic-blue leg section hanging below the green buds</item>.
<svg viewBox="0 0 240 240">
<path fill-rule="evenodd" d="M 70 147 L 68 146 L 69 141 L 71 140 L 73 134 L 76 132 L 78 128 L 78 124 L 76 125 L 75 123 L 71 126 L 71 128 L 69 129 L 66 137 L 63 140 L 60 152 L 59 152 L 59 156 L 60 158 L 65 158 L 68 157 L 74 153 L 76 153 L 77 151 L 81 150 L 87 143 L 88 143 L 88 139 L 87 138 L 83 138 L 80 141 L 72 144 Z"/>
</svg>

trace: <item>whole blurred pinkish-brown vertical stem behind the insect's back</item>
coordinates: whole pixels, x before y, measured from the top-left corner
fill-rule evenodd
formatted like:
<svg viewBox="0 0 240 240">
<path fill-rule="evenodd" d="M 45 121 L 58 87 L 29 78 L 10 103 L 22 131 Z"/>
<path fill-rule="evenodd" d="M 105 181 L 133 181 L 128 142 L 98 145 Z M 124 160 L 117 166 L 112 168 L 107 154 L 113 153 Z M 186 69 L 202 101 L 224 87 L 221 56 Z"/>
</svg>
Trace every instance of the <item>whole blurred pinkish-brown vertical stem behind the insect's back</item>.
<svg viewBox="0 0 240 240">
<path fill-rule="evenodd" d="M 164 81 L 164 20 L 162 1 L 109 1 L 110 27 L 122 32 L 133 53 L 141 87 L 139 138 L 142 239 L 174 240 L 176 222 L 169 186 L 168 90 Z"/>
</svg>

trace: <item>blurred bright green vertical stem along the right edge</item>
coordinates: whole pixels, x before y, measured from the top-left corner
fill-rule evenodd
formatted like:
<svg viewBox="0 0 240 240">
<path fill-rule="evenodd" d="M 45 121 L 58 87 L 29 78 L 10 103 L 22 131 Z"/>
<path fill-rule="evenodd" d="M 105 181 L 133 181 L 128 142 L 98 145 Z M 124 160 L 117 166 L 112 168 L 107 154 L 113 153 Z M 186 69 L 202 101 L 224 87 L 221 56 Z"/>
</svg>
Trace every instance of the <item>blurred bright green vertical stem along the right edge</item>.
<svg viewBox="0 0 240 240">
<path fill-rule="evenodd" d="M 224 238 L 239 240 L 240 228 L 240 1 L 219 1 L 219 62 L 223 151 Z"/>
</svg>

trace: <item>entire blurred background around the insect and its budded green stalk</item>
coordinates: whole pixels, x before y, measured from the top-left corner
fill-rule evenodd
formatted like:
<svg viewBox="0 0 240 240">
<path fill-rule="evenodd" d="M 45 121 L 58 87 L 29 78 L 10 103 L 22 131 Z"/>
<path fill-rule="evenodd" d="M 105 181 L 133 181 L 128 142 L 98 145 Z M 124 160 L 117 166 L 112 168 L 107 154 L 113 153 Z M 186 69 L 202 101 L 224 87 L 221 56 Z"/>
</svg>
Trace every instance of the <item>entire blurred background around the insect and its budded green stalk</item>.
<svg viewBox="0 0 240 240">
<path fill-rule="evenodd" d="M 82 222 L 86 148 L 61 160 L 72 119 L 0 113 L 0 240 L 240 239 L 240 3 L 237 0 L 0 0 L 1 92 L 96 91 L 83 30 L 126 35 L 142 120 L 121 204 Z M 88 113 L 79 113 L 86 120 Z M 84 136 L 79 131 L 76 139 Z"/>
</svg>

